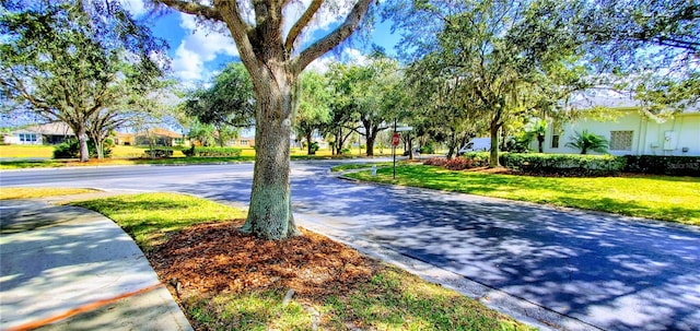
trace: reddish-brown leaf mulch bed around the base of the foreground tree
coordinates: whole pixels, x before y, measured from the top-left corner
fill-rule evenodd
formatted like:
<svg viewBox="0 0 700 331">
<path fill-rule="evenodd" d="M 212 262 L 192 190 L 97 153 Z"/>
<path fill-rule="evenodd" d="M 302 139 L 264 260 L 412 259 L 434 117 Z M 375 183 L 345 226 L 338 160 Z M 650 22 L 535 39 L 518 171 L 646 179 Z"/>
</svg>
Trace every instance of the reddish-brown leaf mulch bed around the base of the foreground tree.
<svg viewBox="0 0 700 331">
<path fill-rule="evenodd" d="M 202 224 L 172 236 L 147 253 L 156 273 L 180 298 L 294 289 L 296 298 L 342 295 L 383 267 L 358 251 L 302 229 L 283 241 L 242 234 L 242 220 Z"/>
</svg>

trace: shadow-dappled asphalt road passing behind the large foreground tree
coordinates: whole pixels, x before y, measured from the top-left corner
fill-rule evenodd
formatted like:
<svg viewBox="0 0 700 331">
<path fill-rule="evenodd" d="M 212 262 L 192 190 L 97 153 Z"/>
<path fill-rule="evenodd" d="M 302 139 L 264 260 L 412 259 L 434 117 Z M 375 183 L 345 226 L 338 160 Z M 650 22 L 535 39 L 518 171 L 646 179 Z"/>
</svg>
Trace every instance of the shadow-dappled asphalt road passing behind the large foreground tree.
<svg viewBox="0 0 700 331">
<path fill-rule="evenodd" d="M 700 330 L 700 230 L 467 194 L 355 184 L 293 163 L 294 212 L 592 329 Z M 2 186 L 188 192 L 247 203 L 253 165 L 2 172 Z"/>
</svg>

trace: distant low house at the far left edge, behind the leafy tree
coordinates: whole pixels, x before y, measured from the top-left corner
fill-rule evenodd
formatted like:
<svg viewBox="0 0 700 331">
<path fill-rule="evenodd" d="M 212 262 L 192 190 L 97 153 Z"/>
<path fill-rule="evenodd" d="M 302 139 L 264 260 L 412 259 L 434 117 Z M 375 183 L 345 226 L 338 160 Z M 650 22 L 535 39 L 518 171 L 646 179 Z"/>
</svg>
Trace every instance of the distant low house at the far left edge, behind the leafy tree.
<svg viewBox="0 0 700 331">
<path fill-rule="evenodd" d="M 73 130 L 63 122 L 28 126 L 14 130 L 3 137 L 5 144 L 40 145 L 59 144 L 66 139 L 74 138 Z"/>
</svg>

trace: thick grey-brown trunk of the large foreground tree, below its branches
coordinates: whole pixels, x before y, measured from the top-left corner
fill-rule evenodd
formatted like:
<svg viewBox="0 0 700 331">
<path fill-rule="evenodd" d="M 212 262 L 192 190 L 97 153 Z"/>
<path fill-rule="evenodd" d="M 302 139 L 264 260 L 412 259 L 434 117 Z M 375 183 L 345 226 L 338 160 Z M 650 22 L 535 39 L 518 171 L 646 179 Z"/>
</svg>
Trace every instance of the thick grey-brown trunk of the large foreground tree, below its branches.
<svg viewBox="0 0 700 331">
<path fill-rule="evenodd" d="M 282 68 L 270 70 L 254 82 L 257 111 L 253 189 L 248 216 L 242 230 L 265 239 L 300 235 L 292 215 L 290 143 L 294 78 Z M 269 76 L 266 76 L 269 74 Z"/>
</svg>

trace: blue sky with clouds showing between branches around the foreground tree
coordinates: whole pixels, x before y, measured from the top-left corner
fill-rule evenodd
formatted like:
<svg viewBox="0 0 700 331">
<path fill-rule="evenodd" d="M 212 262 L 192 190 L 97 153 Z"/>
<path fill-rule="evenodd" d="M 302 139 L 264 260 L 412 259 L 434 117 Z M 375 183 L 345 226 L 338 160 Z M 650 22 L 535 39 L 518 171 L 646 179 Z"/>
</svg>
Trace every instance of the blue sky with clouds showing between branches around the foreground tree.
<svg viewBox="0 0 700 331">
<path fill-rule="evenodd" d="M 126 7 L 137 16 L 143 15 L 148 11 L 142 0 L 124 1 Z M 339 23 L 339 19 L 330 14 L 319 15 L 316 19 L 318 27 L 310 34 L 310 40 L 313 40 L 313 37 L 325 35 Z M 150 19 L 150 24 L 155 36 L 167 40 L 172 74 L 184 83 L 207 81 L 226 62 L 237 58 L 235 44 L 225 29 L 222 34 L 198 25 L 191 15 L 171 11 L 165 15 Z M 389 23 L 377 24 L 372 32 L 371 44 L 384 47 L 392 55 L 395 54 L 394 46 L 399 36 L 392 35 L 389 29 Z M 365 54 L 366 51 L 359 46 L 343 46 L 340 58 L 343 61 L 362 61 Z M 312 63 L 310 68 L 323 70 L 332 60 L 338 60 L 337 52 L 324 56 Z"/>
</svg>

